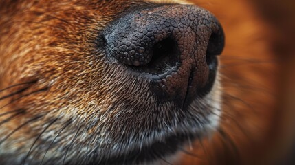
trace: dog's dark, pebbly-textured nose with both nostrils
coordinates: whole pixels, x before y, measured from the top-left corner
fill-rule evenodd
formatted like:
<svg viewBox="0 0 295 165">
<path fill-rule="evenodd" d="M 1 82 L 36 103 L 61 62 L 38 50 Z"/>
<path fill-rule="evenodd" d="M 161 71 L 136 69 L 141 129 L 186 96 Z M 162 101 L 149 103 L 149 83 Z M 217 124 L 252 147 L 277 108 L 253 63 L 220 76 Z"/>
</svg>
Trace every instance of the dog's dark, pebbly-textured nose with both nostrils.
<svg viewBox="0 0 295 165">
<path fill-rule="evenodd" d="M 183 105 L 212 88 L 224 35 L 217 19 L 204 9 L 164 5 L 118 19 L 106 42 L 112 58 L 149 78 L 159 99 Z"/>
</svg>

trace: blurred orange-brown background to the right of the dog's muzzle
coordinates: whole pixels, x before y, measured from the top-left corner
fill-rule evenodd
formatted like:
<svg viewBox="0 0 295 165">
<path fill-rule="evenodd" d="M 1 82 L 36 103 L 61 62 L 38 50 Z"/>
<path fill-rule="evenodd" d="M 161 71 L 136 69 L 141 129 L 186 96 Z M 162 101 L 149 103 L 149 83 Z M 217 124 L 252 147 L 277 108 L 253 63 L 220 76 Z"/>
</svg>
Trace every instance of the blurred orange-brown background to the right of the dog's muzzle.
<svg viewBox="0 0 295 165">
<path fill-rule="evenodd" d="M 295 1 L 191 1 L 226 34 L 223 115 L 179 164 L 295 164 Z"/>
</svg>

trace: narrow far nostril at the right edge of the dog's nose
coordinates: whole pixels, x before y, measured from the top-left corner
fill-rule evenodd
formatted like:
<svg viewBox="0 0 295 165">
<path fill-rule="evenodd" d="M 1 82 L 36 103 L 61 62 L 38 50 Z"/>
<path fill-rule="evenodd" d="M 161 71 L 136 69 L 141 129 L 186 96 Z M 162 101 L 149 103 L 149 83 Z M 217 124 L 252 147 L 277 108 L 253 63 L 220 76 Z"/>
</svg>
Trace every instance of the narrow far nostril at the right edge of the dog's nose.
<svg viewBox="0 0 295 165">
<path fill-rule="evenodd" d="M 224 47 L 224 36 L 223 32 L 220 32 L 220 34 L 212 33 L 206 50 L 206 63 L 208 67 L 212 69 L 212 67 L 215 67 L 215 61 L 216 56 L 221 54 Z"/>
</svg>

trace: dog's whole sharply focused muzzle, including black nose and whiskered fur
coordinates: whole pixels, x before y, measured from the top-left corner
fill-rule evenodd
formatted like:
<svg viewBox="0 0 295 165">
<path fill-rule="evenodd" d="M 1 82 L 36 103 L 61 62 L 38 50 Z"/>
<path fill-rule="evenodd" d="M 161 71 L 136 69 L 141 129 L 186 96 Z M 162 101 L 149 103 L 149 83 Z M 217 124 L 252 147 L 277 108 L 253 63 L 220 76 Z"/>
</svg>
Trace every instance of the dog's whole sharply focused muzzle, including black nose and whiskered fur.
<svg viewBox="0 0 295 165">
<path fill-rule="evenodd" d="M 153 163 L 217 128 L 224 36 L 210 12 L 177 1 L 1 3 L 6 163 Z"/>
</svg>

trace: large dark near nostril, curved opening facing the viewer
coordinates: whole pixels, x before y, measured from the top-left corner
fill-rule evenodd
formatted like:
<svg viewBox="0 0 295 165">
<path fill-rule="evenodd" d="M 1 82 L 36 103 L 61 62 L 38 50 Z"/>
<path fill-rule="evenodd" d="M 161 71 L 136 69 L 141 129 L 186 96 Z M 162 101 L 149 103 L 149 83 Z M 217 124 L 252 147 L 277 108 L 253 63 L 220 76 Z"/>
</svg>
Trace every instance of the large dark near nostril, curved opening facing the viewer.
<svg viewBox="0 0 295 165">
<path fill-rule="evenodd" d="M 149 63 L 142 66 L 134 66 L 133 68 L 150 74 L 162 74 L 177 65 L 180 52 L 176 41 L 166 38 L 153 45 L 151 56 Z"/>
</svg>

